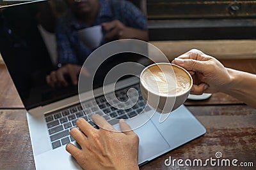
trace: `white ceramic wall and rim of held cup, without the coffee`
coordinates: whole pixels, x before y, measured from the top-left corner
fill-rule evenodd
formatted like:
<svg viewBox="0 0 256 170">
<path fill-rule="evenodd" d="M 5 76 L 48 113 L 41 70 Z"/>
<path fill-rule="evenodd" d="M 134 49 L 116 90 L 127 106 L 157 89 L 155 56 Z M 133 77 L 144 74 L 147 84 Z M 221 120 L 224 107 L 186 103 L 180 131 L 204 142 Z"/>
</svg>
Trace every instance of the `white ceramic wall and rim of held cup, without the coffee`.
<svg viewBox="0 0 256 170">
<path fill-rule="evenodd" d="M 152 67 L 155 65 L 161 67 L 161 66 L 163 66 L 163 64 L 166 66 L 170 66 L 170 74 L 174 75 L 173 81 L 176 81 L 175 71 L 173 71 L 173 69 L 172 69 L 173 67 L 177 67 L 178 69 L 175 69 L 175 70 L 184 72 L 185 74 L 188 75 L 188 77 L 190 79 L 189 80 L 190 85 L 186 91 L 181 92 L 179 94 L 159 94 L 156 92 L 156 90 L 148 89 L 147 85 L 145 84 L 145 81 L 142 80 L 143 73 L 149 67 Z M 156 111 L 158 111 L 160 113 L 170 113 L 171 111 L 179 108 L 179 106 L 181 106 L 188 98 L 188 95 L 189 95 L 192 85 L 193 85 L 193 79 L 192 79 L 191 75 L 188 73 L 188 71 L 186 71 L 186 69 L 184 69 L 180 66 L 177 66 L 175 64 L 170 64 L 170 63 L 152 64 L 152 65 L 146 67 L 145 69 L 143 69 L 143 71 L 140 74 L 140 89 L 141 89 L 141 94 L 143 96 L 143 99 L 152 108 L 154 108 Z"/>
</svg>

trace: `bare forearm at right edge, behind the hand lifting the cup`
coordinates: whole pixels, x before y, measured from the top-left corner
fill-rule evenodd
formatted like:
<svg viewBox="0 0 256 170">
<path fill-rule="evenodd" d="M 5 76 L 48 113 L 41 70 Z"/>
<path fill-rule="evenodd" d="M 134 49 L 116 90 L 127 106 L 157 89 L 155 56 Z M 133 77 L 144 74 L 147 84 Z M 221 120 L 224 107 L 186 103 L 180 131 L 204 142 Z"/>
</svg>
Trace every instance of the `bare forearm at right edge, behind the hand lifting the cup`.
<svg viewBox="0 0 256 170">
<path fill-rule="evenodd" d="M 225 93 L 256 108 L 256 75 L 234 69 L 227 70 L 231 81 L 225 89 Z"/>
</svg>

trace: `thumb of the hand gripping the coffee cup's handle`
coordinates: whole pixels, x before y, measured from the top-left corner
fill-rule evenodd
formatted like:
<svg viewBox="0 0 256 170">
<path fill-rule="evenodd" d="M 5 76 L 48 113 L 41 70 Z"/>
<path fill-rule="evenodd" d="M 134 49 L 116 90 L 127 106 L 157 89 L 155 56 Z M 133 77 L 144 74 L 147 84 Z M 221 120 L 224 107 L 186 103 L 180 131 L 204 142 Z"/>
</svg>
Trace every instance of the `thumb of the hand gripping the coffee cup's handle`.
<svg viewBox="0 0 256 170">
<path fill-rule="evenodd" d="M 189 71 L 198 71 L 200 73 L 205 72 L 205 62 L 200 60 L 193 60 L 193 59 L 180 59 L 175 58 L 173 60 L 173 64 L 177 64 L 180 67 L 183 67 Z"/>
</svg>

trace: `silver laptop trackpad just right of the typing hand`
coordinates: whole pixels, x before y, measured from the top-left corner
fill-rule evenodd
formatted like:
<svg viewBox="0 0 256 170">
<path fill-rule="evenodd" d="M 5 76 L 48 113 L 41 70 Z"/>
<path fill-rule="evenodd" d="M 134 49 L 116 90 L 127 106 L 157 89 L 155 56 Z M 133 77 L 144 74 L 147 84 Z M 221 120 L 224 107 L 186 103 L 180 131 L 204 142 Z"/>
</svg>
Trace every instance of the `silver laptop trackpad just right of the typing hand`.
<svg viewBox="0 0 256 170">
<path fill-rule="evenodd" d="M 134 132 L 140 138 L 138 164 L 152 160 L 170 148 L 151 121 L 148 121 Z"/>
</svg>

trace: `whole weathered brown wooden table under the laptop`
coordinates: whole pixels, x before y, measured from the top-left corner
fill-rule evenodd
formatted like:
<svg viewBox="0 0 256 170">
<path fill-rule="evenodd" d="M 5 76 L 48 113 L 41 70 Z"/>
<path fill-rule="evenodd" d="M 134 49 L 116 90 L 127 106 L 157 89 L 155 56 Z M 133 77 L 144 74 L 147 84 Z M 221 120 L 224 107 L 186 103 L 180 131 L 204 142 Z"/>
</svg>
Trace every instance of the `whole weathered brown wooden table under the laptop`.
<svg viewBox="0 0 256 170">
<path fill-rule="evenodd" d="M 221 62 L 227 67 L 256 74 L 255 59 L 221 60 Z M 166 167 L 164 160 L 170 156 L 172 160 L 205 160 L 211 157 L 215 159 L 216 152 L 221 152 L 223 159 L 253 162 L 255 169 L 256 110 L 225 94 L 213 94 L 204 101 L 186 101 L 185 104 L 205 126 L 206 134 L 161 155 L 141 166 L 141 169 L 205 169 L 205 167 L 179 167 L 177 162 L 175 166 Z M 207 167 L 207 169 L 215 168 Z M 0 169 L 35 169 L 26 110 L 3 65 L 0 65 Z M 245 169 L 253 169 L 253 167 Z"/>
</svg>

